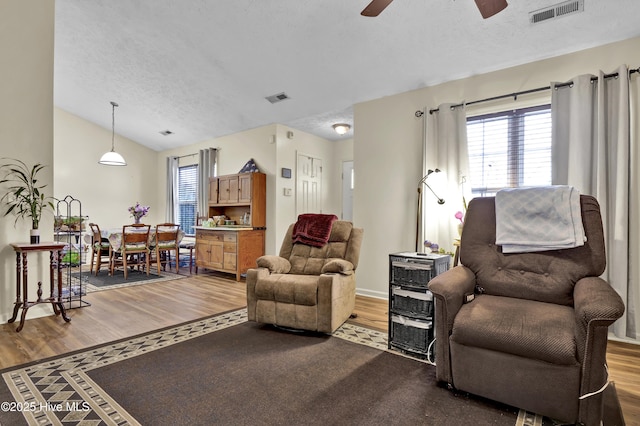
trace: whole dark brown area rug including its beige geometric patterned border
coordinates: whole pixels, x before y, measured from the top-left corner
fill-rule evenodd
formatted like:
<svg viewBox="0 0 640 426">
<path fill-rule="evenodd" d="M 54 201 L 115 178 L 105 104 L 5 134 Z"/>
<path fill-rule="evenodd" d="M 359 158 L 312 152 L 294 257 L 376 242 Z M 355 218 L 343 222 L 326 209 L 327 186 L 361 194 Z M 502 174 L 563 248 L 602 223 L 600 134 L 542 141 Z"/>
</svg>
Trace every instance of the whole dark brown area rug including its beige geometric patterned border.
<svg viewBox="0 0 640 426">
<path fill-rule="evenodd" d="M 381 350 L 385 335 L 351 324 L 291 333 L 241 310 L 6 370 L 0 399 L 66 409 L 27 413 L 32 424 L 553 424 L 438 386 L 434 366 Z M 0 424 L 26 423 L 0 412 Z"/>
</svg>

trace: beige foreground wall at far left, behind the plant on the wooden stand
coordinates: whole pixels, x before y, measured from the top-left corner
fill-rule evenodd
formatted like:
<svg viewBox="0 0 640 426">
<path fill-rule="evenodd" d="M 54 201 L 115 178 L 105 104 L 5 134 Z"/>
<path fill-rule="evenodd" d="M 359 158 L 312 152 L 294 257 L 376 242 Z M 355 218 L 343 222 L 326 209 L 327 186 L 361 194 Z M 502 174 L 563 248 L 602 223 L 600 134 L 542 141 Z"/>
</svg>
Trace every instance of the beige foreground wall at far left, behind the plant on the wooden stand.
<svg viewBox="0 0 640 426">
<path fill-rule="evenodd" d="M 54 1 L 0 0 L 0 11 L 0 157 L 18 158 L 29 166 L 46 165 L 40 177 L 47 184 L 47 195 L 52 195 Z M 14 225 L 14 221 L 14 216 L 0 217 L 2 322 L 11 316 L 16 300 L 16 257 L 8 244 L 28 242 L 31 228 L 30 222 Z M 52 215 L 43 217 L 40 229 L 42 240 L 53 238 Z M 36 267 L 36 256 L 29 257 L 32 299 L 36 297 L 36 283 L 49 277 L 48 270 Z M 40 257 L 48 262 L 48 253 Z M 27 318 L 51 312 L 50 305 L 38 305 L 29 309 Z"/>
</svg>

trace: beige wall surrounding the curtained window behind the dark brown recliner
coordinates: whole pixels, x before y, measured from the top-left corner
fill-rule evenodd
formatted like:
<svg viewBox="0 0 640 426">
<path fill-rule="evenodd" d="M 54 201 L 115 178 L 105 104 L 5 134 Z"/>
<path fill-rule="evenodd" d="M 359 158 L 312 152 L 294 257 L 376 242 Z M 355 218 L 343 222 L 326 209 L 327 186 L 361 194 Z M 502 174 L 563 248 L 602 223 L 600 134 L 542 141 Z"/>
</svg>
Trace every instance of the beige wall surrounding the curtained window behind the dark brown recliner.
<svg viewBox="0 0 640 426">
<path fill-rule="evenodd" d="M 354 222 L 365 228 L 358 291 L 386 297 L 389 253 L 415 248 L 423 133 L 423 119 L 415 117 L 417 110 L 544 87 L 599 69 L 612 72 L 624 63 L 638 67 L 639 51 L 640 38 L 634 38 L 355 105 Z M 637 74 L 633 79 L 638 79 Z M 482 104 L 469 107 L 468 114 L 550 102 L 550 96 L 544 92 L 520 96 L 517 102 Z"/>
</svg>

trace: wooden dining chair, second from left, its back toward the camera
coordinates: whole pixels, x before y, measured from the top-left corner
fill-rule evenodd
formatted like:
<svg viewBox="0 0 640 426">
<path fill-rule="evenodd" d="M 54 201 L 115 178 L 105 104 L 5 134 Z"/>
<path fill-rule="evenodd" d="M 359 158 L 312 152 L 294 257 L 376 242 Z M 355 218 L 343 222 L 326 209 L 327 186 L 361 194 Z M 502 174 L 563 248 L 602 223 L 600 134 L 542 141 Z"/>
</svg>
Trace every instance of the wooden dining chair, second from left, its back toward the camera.
<svg viewBox="0 0 640 426">
<path fill-rule="evenodd" d="M 151 251 L 149 249 L 149 232 L 151 225 L 134 223 L 122 227 L 122 243 L 118 249 L 111 246 L 111 275 L 118 266 L 124 269 L 124 278 L 127 279 L 127 272 L 130 266 L 144 265 L 149 275 L 149 259 Z"/>
</svg>

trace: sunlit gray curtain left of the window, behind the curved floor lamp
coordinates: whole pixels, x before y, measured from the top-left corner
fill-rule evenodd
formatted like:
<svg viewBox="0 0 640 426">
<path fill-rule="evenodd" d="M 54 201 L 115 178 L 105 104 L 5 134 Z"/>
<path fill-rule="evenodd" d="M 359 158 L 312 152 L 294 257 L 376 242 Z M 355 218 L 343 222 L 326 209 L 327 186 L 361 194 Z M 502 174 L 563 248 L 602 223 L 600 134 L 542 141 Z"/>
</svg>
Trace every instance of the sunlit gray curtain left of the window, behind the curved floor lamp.
<svg viewBox="0 0 640 426">
<path fill-rule="evenodd" d="M 437 243 L 446 251 L 453 252 L 453 243 L 460 238 L 455 214 L 463 211 L 463 197 L 469 201 L 471 186 L 469 176 L 469 153 L 467 146 L 467 115 L 464 107 L 453 108 L 443 104 L 430 114 L 425 110 L 423 174 L 429 169 L 439 169 L 427 180 L 435 193 L 445 200 L 438 204 L 437 198 L 424 184 L 422 208 L 418 214 L 418 251 L 423 251 L 424 240 Z M 418 183 L 420 179 L 416 180 Z"/>
</svg>

